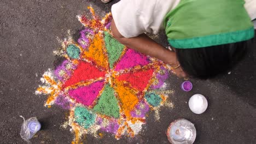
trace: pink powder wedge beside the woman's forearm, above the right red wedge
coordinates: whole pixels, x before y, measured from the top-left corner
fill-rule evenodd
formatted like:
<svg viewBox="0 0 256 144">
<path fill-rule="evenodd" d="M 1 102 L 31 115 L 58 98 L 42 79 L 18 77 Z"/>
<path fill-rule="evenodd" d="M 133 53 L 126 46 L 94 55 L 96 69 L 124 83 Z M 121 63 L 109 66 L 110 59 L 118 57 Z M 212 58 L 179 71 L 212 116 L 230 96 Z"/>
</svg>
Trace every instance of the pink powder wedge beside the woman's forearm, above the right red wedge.
<svg viewBox="0 0 256 144">
<path fill-rule="evenodd" d="M 136 65 L 147 65 L 149 64 L 147 56 L 142 55 L 141 53 L 128 49 L 121 58 L 120 62 L 115 67 L 115 70 L 121 70 L 121 69 L 127 69 L 127 68 L 133 68 Z"/>
</svg>

